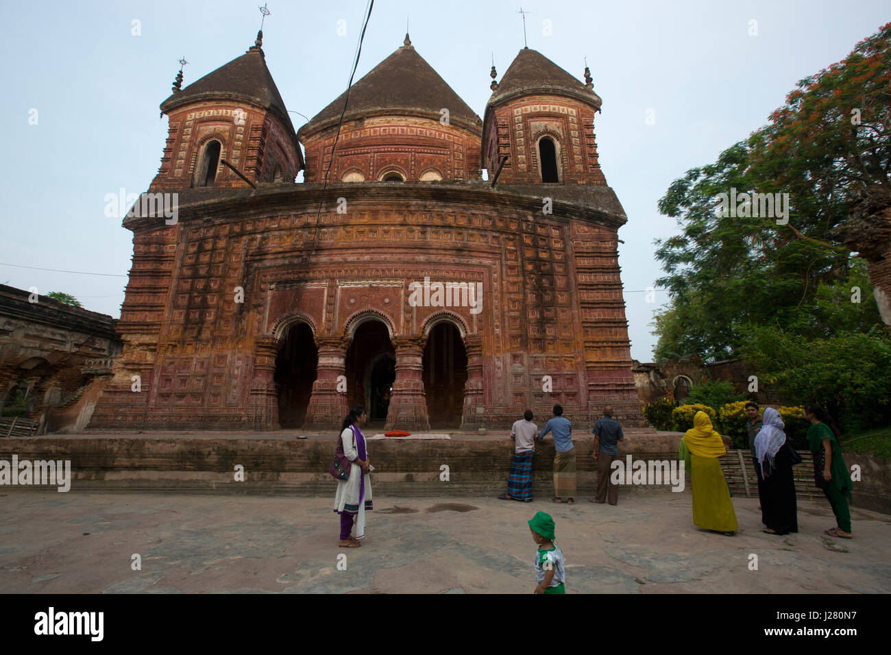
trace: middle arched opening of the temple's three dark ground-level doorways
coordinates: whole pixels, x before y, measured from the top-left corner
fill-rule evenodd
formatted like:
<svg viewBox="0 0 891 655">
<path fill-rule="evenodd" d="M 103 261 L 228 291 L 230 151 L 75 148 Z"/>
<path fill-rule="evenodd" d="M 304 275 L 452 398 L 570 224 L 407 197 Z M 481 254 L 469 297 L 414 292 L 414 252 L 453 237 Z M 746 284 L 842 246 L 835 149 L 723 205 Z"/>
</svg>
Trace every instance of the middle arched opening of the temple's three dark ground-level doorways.
<svg viewBox="0 0 891 655">
<path fill-rule="evenodd" d="M 396 380 L 396 351 L 384 323 L 372 319 L 356 328 L 346 368 L 348 405 L 363 405 L 373 427 L 382 427 Z"/>
</svg>

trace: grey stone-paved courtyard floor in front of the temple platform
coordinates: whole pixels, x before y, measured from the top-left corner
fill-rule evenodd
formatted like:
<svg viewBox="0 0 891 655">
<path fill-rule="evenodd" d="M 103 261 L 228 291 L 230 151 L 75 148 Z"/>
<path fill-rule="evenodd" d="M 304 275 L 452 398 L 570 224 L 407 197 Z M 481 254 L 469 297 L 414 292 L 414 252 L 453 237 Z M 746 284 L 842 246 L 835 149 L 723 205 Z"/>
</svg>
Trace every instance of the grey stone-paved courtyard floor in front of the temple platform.
<svg viewBox="0 0 891 655">
<path fill-rule="evenodd" d="M 350 549 L 337 545 L 332 498 L 0 494 L 0 592 L 528 594 L 526 521 L 543 510 L 570 594 L 891 593 L 891 517 L 853 509 L 854 539 L 831 539 L 825 502 L 799 502 L 797 535 L 769 536 L 758 500 L 736 497 L 730 537 L 693 526 L 689 492 L 625 494 L 616 507 L 375 497 Z"/>
</svg>

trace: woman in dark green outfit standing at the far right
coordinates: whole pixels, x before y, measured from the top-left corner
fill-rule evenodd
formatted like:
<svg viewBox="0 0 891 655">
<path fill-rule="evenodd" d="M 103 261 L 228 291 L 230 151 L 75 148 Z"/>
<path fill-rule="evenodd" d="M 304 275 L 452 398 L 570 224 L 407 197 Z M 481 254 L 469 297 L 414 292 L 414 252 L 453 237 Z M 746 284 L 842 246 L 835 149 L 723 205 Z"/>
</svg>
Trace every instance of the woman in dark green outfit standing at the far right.
<svg viewBox="0 0 891 655">
<path fill-rule="evenodd" d="M 805 404 L 805 419 L 811 422 L 807 429 L 807 444 L 813 453 L 813 481 L 829 499 L 838 527 L 825 530 L 829 536 L 850 539 L 851 512 L 847 503 L 851 500 L 851 474 L 838 446 L 838 433 L 832 425 L 829 413 L 815 403 Z"/>
</svg>

